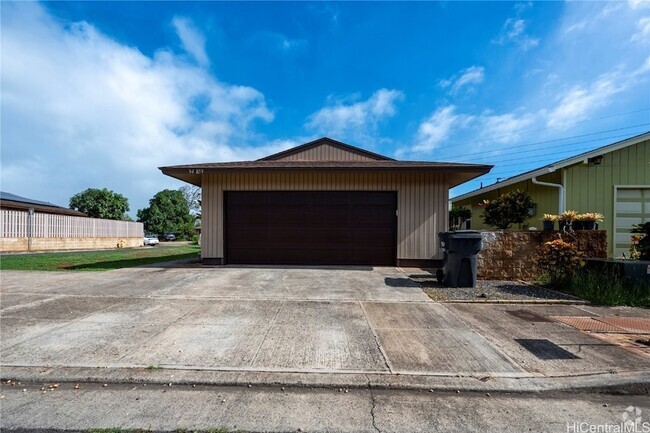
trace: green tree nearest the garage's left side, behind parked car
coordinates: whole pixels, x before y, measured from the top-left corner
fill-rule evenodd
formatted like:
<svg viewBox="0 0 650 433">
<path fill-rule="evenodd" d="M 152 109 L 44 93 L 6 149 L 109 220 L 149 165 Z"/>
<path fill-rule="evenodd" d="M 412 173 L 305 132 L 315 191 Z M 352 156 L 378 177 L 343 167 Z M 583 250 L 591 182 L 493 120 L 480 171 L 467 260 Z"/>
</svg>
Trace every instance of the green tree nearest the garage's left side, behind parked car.
<svg viewBox="0 0 650 433">
<path fill-rule="evenodd" d="M 149 207 L 138 210 L 138 221 L 150 233 L 162 235 L 175 233 L 177 237 L 191 239 L 194 235 L 194 217 L 183 193 L 165 189 L 149 200 Z"/>
</svg>

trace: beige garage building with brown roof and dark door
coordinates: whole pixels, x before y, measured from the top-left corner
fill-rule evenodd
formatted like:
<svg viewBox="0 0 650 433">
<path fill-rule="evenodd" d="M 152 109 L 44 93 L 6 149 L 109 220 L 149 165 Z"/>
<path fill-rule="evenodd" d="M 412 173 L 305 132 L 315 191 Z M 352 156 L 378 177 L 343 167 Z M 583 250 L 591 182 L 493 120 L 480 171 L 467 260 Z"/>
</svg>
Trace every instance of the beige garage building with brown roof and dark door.
<svg viewBox="0 0 650 433">
<path fill-rule="evenodd" d="M 449 189 L 491 168 L 321 138 L 257 161 L 161 170 L 202 189 L 204 264 L 432 266 Z"/>
</svg>

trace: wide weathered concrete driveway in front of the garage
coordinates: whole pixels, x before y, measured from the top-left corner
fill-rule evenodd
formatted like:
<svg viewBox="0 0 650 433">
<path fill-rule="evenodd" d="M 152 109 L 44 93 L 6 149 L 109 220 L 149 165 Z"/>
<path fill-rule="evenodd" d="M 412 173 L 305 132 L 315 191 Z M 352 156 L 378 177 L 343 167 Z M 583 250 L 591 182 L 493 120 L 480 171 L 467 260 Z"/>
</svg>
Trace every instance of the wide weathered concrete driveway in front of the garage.
<svg viewBox="0 0 650 433">
<path fill-rule="evenodd" d="M 530 378 L 650 367 L 647 355 L 566 325 L 522 322 L 508 313 L 513 307 L 434 303 L 398 268 L 148 267 L 0 277 L 5 372 L 161 366 Z M 524 339 L 546 339 L 575 356 L 540 358 Z"/>
</svg>

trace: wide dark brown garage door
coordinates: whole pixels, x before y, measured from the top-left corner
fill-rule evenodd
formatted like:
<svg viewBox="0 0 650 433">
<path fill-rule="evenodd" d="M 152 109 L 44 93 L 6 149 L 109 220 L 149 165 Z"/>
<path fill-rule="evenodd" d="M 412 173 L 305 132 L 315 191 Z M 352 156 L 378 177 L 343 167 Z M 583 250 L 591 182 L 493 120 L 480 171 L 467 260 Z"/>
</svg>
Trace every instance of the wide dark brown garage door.
<svg viewBox="0 0 650 433">
<path fill-rule="evenodd" d="M 226 262 L 394 265 L 397 194 L 225 193 Z"/>
</svg>

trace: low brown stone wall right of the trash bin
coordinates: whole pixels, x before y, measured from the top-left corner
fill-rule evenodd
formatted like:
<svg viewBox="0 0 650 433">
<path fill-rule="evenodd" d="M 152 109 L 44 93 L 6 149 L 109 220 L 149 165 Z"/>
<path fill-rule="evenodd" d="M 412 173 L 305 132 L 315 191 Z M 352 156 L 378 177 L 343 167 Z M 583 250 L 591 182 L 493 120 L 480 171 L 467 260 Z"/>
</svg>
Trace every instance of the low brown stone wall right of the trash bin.
<svg viewBox="0 0 650 433">
<path fill-rule="evenodd" d="M 533 280 L 537 277 L 537 258 L 544 242 L 561 236 L 575 243 L 585 257 L 607 257 L 607 232 L 577 231 L 486 231 L 478 255 L 478 278 L 483 280 Z"/>
</svg>

